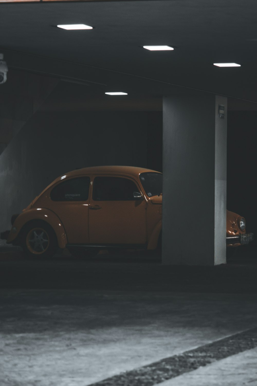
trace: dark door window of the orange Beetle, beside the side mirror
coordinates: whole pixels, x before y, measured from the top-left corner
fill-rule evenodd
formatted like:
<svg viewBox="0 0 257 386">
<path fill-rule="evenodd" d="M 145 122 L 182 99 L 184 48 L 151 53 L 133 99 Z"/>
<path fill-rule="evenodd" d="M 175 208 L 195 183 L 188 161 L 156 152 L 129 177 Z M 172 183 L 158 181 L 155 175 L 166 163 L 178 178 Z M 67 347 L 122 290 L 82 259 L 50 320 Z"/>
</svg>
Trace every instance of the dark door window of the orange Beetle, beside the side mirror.
<svg viewBox="0 0 257 386">
<path fill-rule="evenodd" d="M 93 200 L 135 200 L 133 193 L 137 191 L 139 191 L 137 185 L 130 179 L 120 177 L 96 177 L 94 181 Z"/>
</svg>

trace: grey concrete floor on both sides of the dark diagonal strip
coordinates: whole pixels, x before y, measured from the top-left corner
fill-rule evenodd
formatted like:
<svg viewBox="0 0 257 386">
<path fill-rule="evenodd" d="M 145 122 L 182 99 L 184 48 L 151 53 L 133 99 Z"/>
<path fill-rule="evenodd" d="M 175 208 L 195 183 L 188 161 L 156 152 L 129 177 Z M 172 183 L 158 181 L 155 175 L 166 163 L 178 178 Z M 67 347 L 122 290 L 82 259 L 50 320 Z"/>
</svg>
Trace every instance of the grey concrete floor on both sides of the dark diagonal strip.
<svg viewBox="0 0 257 386">
<path fill-rule="evenodd" d="M 227 266 L 164 267 L 135 254 L 27 261 L 2 251 L 1 386 L 86 386 L 257 327 L 252 255 Z M 257 385 L 256 353 L 161 384 Z"/>
</svg>

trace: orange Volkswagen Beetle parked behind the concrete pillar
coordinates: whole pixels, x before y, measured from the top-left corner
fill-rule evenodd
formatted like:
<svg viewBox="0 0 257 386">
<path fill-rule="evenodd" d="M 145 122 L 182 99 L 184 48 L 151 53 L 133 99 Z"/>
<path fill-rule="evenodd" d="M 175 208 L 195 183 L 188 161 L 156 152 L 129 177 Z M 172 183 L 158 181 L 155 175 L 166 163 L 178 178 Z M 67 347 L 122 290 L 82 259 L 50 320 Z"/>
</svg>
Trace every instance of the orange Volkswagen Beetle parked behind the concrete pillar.
<svg viewBox="0 0 257 386">
<path fill-rule="evenodd" d="M 95 166 L 55 179 L 1 233 L 33 257 L 57 248 L 93 255 L 99 249 L 161 244 L 162 173 L 132 166 Z M 227 212 L 227 245 L 248 244 L 245 220 Z"/>
</svg>

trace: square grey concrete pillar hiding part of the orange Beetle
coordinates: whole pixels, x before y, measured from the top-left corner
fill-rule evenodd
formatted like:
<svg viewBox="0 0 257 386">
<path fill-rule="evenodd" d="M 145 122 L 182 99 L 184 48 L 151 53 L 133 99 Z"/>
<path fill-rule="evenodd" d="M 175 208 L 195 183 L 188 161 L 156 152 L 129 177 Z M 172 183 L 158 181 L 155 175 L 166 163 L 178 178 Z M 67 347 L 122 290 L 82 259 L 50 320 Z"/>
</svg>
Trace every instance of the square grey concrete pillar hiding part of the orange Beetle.
<svg viewBox="0 0 257 386">
<path fill-rule="evenodd" d="M 163 264 L 225 263 L 227 98 L 164 97 L 163 173 Z"/>
</svg>

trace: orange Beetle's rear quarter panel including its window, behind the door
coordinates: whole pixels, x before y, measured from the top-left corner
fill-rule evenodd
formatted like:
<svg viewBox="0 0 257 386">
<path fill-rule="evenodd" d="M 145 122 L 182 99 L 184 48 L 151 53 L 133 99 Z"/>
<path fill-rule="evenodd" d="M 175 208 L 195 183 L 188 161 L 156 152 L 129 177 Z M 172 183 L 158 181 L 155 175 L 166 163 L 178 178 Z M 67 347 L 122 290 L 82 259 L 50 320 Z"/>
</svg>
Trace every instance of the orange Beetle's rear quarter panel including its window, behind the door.
<svg viewBox="0 0 257 386">
<path fill-rule="evenodd" d="M 90 177 L 70 178 L 57 183 L 50 192 L 49 209 L 63 223 L 69 244 L 86 244 Z"/>
</svg>

